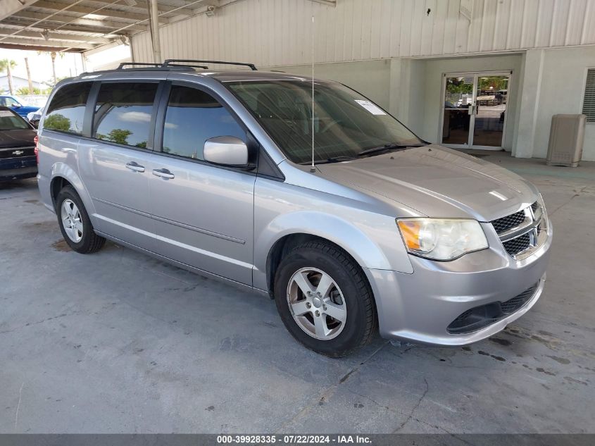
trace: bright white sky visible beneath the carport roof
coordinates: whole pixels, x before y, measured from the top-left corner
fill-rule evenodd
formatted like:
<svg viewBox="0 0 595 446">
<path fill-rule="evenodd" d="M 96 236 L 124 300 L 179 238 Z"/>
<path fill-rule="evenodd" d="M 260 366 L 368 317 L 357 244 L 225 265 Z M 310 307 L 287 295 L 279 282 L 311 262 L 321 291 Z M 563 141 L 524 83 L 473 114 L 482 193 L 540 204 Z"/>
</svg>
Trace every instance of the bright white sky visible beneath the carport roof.
<svg viewBox="0 0 595 446">
<path fill-rule="evenodd" d="M 56 77 L 75 76 L 82 73 L 82 60 L 80 54 L 63 53 L 56 56 Z M 0 60 L 12 59 L 17 66 L 11 70 L 14 76 L 27 79 L 27 69 L 25 68 L 25 57 L 29 58 L 29 68 L 31 78 L 37 82 L 51 80 L 51 57 L 49 53 L 37 54 L 37 51 L 23 51 L 20 49 L 0 48 Z M 1 73 L 6 75 L 6 73 Z"/>
</svg>

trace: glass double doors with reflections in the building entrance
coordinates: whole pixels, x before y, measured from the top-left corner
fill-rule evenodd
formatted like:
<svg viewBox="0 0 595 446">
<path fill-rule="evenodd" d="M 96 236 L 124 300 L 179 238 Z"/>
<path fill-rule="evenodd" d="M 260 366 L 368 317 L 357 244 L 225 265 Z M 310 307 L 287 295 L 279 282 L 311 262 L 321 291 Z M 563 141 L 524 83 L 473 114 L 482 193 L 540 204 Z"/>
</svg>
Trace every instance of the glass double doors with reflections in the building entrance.
<svg viewBox="0 0 595 446">
<path fill-rule="evenodd" d="M 502 148 L 510 73 L 445 75 L 441 144 Z"/>
</svg>

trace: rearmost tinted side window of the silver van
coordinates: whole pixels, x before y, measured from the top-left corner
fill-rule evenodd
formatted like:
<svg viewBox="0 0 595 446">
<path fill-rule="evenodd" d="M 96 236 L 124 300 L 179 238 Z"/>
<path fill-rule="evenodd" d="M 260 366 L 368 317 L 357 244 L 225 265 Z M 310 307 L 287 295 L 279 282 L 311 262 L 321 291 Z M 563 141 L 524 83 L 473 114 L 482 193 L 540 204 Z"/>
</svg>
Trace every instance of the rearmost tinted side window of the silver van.
<svg viewBox="0 0 595 446">
<path fill-rule="evenodd" d="M 80 135 L 90 89 L 91 82 L 65 85 L 59 89 L 47 109 L 44 128 Z"/>
</svg>

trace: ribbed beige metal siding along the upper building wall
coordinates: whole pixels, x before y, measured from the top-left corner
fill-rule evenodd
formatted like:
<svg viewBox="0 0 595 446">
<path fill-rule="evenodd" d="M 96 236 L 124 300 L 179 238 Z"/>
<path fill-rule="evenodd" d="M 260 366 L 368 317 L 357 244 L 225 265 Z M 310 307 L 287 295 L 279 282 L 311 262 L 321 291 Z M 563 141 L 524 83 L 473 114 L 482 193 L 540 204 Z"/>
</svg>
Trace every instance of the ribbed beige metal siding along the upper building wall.
<svg viewBox="0 0 595 446">
<path fill-rule="evenodd" d="M 202 14 L 161 27 L 163 58 L 218 58 L 258 66 L 315 61 L 472 54 L 595 44 L 592 0 L 475 0 L 472 20 L 461 0 L 221 1 Z M 152 61 L 148 32 L 132 37 L 135 61 Z"/>
</svg>

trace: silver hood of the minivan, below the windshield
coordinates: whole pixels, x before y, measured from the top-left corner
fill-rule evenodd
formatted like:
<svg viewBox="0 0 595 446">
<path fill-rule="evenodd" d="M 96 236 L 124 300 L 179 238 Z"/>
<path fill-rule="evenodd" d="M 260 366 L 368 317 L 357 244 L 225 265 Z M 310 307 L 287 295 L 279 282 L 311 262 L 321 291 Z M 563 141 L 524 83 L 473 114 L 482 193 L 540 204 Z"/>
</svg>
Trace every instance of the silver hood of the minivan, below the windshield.
<svg viewBox="0 0 595 446">
<path fill-rule="evenodd" d="M 505 168 L 434 144 L 317 167 L 329 180 L 430 217 L 492 221 L 529 206 L 539 194 Z"/>
</svg>

